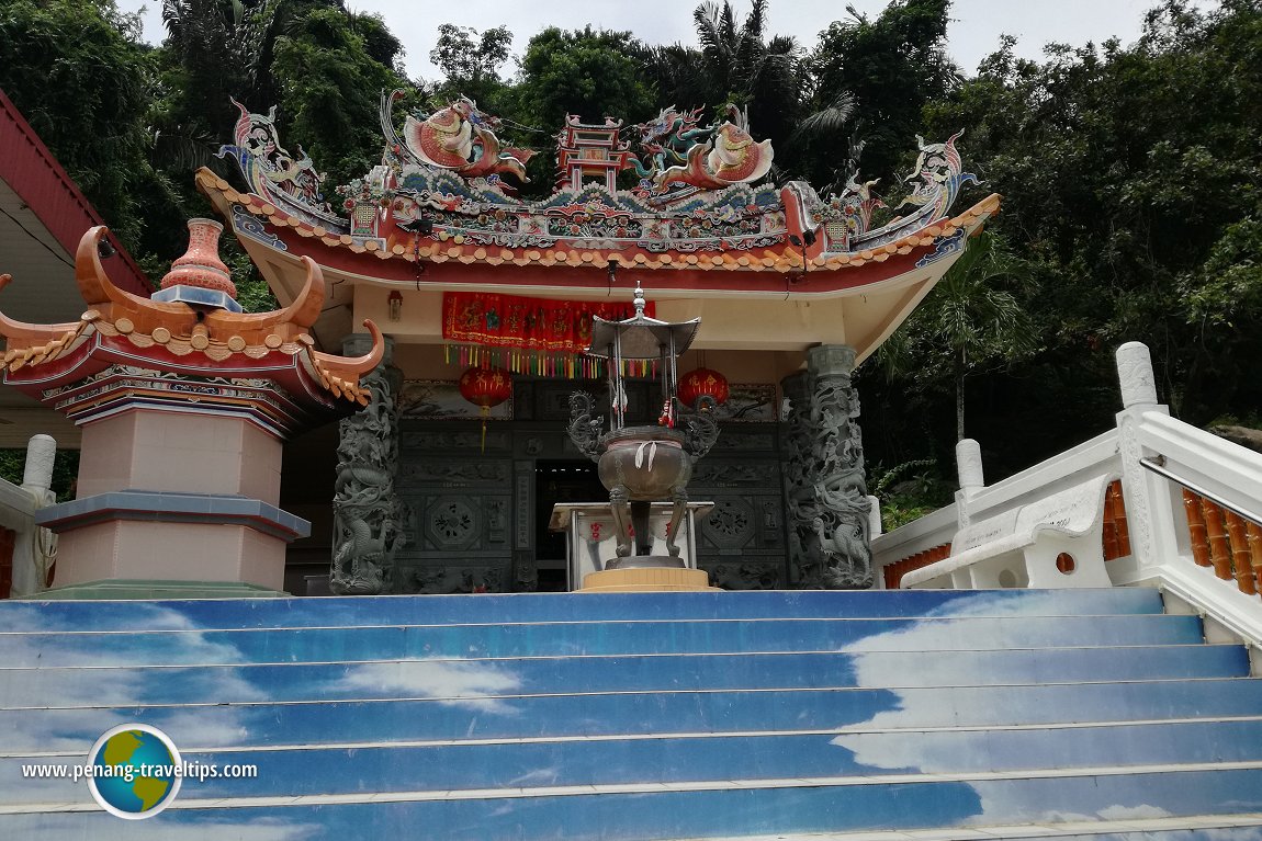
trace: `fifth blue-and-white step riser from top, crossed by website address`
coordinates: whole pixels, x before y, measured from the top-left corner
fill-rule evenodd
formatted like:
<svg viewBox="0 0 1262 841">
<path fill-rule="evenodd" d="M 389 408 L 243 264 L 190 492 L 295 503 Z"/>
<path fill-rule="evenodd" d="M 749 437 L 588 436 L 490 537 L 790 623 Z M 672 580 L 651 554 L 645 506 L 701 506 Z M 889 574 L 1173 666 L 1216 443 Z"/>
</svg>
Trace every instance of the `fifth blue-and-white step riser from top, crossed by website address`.
<svg viewBox="0 0 1262 841">
<path fill-rule="evenodd" d="M 0 759 L 0 803 L 57 802 L 82 784 L 30 778 L 24 769 L 83 762 L 87 745 L 59 758 Z M 1078 773 L 1085 768 L 1214 764 L 1262 765 L 1262 719 L 1179 724 L 1113 724 L 1041 730 L 881 734 L 777 734 L 453 741 L 201 751 L 198 767 L 250 765 L 249 778 L 206 779 L 202 798 L 353 794 L 572 786 L 664 784 L 724 779 L 905 782 L 931 774 Z M 1050 770 L 1049 770 L 1050 769 Z"/>
</svg>

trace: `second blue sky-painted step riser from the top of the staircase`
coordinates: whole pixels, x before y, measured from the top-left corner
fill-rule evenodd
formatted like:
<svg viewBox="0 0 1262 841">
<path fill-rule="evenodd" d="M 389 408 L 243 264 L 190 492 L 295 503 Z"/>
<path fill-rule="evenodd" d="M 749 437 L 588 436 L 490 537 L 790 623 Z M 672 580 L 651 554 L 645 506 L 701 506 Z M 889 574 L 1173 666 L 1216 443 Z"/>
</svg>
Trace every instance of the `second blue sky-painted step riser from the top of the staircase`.
<svg viewBox="0 0 1262 841">
<path fill-rule="evenodd" d="M 0 633 L 0 668 L 671 652 L 983 651 L 1195 644 L 1201 641 L 1196 617 L 1161 614 Z"/>
</svg>

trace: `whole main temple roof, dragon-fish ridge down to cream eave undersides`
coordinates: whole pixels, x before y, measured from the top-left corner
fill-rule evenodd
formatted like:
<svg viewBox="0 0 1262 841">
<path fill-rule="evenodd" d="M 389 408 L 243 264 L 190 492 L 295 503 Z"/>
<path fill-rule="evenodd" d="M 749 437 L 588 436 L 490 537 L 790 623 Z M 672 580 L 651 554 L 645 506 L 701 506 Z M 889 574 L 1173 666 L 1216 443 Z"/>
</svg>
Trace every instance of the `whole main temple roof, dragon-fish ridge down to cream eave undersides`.
<svg viewBox="0 0 1262 841">
<path fill-rule="evenodd" d="M 919 159 L 904 179 L 910 195 L 891 211 L 902 214 L 882 224 L 873 221 L 886 207 L 876 182 L 852 177 L 823 198 L 803 182 L 769 184 L 771 142 L 757 140 L 734 107 L 718 125 L 702 125 L 699 108 L 665 108 L 635 126 L 572 116 L 558 135 L 563 177 L 549 195 L 528 200 L 514 183 L 525 180 L 535 153 L 501 144 L 493 116 L 461 98 L 399 120 L 396 100 L 381 98 L 381 164 L 338 187 L 337 206 L 326 200 L 316 163 L 281 145 L 274 112 L 239 106 L 235 144 L 221 150 L 247 189 L 208 169 L 196 177 L 280 300 L 297 289 L 303 256 L 331 276 L 343 314 L 331 310 L 317 325 L 328 343 L 350 332 L 345 313 L 385 313 L 385 296 L 356 289 L 404 295 L 413 320 L 395 334 L 433 343 L 443 340 L 433 319 L 415 314 L 438 309 L 434 295 L 594 300 L 617 294 L 618 272 L 630 271 L 652 272 L 642 280 L 654 299 L 683 306 L 673 318 L 695 316 L 704 303 L 698 347 L 843 342 L 863 358 L 1000 208 L 989 195 L 950 214 L 960 188 L 977 180 L 963 170 L 959 135 L 917 139 Z M 765 306 L 738 311 L 738 299 L 750 298 Z M 809 314 L 794 309 L 811 301 Z"/>
</svg>

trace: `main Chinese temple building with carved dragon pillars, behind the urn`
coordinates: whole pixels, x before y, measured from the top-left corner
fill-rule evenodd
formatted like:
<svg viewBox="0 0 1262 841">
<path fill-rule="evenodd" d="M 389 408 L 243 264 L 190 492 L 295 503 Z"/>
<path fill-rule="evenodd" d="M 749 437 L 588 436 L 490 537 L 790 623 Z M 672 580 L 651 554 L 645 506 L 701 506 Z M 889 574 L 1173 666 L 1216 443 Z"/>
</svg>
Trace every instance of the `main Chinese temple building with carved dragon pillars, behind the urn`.
<svg viewBox="0 0 1262 841">
<path fill-rule="evenodd" d="M 630 315 L 639 282 L 650 315 L 702 319 L 683 381 L 727 391 L 723 432 L 690 485 L 714 502 L 698 527 L 700 566 L 729 589 L 868 586 L 849 374 L 998 209 L 992 195 L 950 214 L 972 179 L 955 137 L 921 144 L 904 214 L 875 227 L 883 203 L 871 184 L 819 197 L 767 183 L 771 144 L 734 107 L 713 126 L 674 108 L 630 127 L 569 117 L 555 192 L 528 202 L 514 184 L 534 153 L 502 146 L 493 117 L 462 98 L 399 120 L 394 101 L 382 97 L 381 164 L 338 187 L 336 204 L 317 164 L 281 145 L 274 115 L 244 107 L 223 154 L 247 188 L 197 174 L 283 304 L 303 287 L 305 258 L 321 266 L 321 347 L 362 353 L 352 325 L 365 319 L 389 337 L 389 363 L 367 382 L 374 405 L 398 411 L 351 419 L 337 443 L 298 458 L 332 473 L 338 453 L 332 487 L 294 483 L 309 489 L 295 502 L 314 527 L 292 571 L 319 575 L 332 556 L 341 593 L 574 589 L 549 514 L 604 492 L 565 440 L 567 401 L 586 390 L 608 406 L 603 361 L 587 354 L 591 319 Z M 511 388 L 462 396 L 478 367 Z M 651 368 L 626 371 L 632 416 L 656 417 Z M 369 440 L 374 459 L 350 455 Z"/>
</svg>

